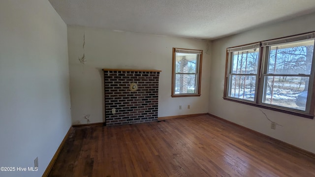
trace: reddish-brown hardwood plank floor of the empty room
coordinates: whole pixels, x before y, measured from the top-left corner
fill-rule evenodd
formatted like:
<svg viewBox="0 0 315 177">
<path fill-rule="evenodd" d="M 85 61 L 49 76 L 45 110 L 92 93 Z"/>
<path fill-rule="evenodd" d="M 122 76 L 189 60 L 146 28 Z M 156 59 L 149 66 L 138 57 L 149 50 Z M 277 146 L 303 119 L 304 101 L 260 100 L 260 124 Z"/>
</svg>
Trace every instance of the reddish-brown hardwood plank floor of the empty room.
<svg viewBox="0 0 315 177">
<path fill-rule="evenodd" d="M 315 177 L 315 159 L 199 116 L 74 128 L 49 177 Z"/>
</svg>

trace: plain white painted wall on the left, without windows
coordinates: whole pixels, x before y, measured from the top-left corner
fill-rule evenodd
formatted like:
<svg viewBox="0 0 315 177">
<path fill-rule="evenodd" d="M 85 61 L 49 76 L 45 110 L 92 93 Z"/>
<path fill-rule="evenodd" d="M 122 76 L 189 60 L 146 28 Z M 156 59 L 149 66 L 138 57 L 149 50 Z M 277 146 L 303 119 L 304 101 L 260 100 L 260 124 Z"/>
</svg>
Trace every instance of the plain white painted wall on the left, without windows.
<svg viewBox="0 0 315 177">
<path fill-rule="evenodd" d="M 1 0 L 1 177 L 41 177 L 71 126 L 66 28 L 48 0 Z"/>
</svg>

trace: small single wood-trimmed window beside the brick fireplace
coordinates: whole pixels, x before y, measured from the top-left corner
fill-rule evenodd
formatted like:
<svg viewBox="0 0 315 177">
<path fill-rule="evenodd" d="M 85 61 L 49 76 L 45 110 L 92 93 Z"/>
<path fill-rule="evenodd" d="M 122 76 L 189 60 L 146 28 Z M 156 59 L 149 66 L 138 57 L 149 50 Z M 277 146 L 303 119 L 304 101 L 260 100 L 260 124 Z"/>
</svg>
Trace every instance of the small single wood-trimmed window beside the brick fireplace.
<svg viewBox="0 0 315 177">
<path fill-rule="evenodd" d="M 200 96 L 202 50 L 173 48 L 172 97 Z"/>
</svg>

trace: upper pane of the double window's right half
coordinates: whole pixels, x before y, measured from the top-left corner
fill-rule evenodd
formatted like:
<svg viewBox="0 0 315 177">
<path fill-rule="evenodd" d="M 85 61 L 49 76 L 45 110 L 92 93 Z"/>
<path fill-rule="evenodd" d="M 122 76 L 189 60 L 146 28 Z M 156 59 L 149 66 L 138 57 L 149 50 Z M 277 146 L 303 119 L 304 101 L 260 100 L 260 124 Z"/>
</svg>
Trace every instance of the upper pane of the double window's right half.
<svg viewBox="0 0 315 177">
<path fill-rule="evenodd" d="M 268 74 L 311 74 L 314 39 L 270 47 Z"/>
</svg>

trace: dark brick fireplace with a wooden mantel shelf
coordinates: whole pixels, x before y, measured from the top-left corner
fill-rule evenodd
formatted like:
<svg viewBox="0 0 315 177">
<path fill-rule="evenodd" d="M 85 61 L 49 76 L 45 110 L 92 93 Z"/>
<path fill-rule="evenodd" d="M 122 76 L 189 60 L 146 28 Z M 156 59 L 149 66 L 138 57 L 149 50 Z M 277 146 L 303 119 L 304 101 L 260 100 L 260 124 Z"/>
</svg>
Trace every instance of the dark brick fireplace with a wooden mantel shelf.
<svg viewBox="0 0 315 177">
<path fill-rule="evenodd" d="M 103 71 L 106 126 L 158 120 L 159 70 Z"/>
</svg>

